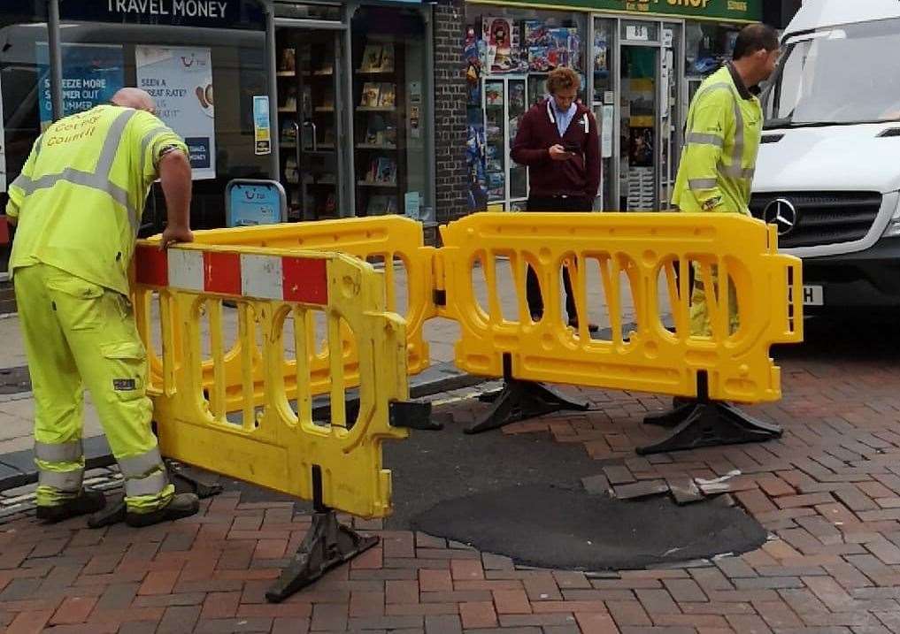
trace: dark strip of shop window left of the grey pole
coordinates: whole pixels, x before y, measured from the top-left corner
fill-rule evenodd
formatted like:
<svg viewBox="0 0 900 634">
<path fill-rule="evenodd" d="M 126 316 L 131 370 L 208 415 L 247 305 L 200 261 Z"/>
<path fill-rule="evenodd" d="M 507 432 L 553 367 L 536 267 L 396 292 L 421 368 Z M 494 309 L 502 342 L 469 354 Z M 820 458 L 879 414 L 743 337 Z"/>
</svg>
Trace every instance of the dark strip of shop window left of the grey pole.
<svg viewBox="0 0 900 634">
<path fill-rule="evenodd" d="M 0 8 L 0 213 L 8 184 L 22 171 L 40 134 L 37 43 L 47 41 L 47 4 L 27 4 L 28 9 Z M 0 246 L 0 273 L 6 271 L 9 251 Z"/>
</svg>

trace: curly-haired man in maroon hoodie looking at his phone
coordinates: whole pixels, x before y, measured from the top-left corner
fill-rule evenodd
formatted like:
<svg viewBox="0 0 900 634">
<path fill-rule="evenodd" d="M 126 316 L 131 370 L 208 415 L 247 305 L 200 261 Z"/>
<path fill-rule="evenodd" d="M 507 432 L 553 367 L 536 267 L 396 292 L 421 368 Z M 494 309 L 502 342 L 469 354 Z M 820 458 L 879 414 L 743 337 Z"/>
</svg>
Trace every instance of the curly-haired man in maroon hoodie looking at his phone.
<svg viewBox="0 0 900 634">
<path fill-rule="evenodd" d="M 581 78 L 572 68 L 557 68 L 547 77 L 550 98 L 532 106 L 518 124 L 512 159 L 528 166 L 531 190 L 528 211 L 590 211 L 600 185 L 597 121 L 575 99 Z M 569 325 L 578 327 L 569 268 L 563 267 Z M 544 315 L 544 299 L 529 266 L 527 299 L 531 318 Z M 591 332 L 597 330 L 590 326 Z"/>
</svg>

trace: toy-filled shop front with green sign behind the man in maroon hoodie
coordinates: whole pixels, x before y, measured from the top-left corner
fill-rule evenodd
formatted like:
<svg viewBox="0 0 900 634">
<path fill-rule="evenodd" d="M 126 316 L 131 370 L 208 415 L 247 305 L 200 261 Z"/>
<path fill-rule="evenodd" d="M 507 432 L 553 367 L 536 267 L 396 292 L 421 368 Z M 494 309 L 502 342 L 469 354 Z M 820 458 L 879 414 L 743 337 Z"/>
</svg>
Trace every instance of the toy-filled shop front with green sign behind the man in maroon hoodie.
<svg viewBox="0 0 900 634">
<path fill-rule="evenodd" d="M 595 210 L 662 210 L 671 200 L 691 96 L 730 58 L 760 0 L 576 0 L 466 7 L 471 210 L 521 210 L 527 170 L 510 161 L 518 118 L 572 67 L 599 125 Z M 590 101 L 589 101 L 590 100 Z"/>
</svg>

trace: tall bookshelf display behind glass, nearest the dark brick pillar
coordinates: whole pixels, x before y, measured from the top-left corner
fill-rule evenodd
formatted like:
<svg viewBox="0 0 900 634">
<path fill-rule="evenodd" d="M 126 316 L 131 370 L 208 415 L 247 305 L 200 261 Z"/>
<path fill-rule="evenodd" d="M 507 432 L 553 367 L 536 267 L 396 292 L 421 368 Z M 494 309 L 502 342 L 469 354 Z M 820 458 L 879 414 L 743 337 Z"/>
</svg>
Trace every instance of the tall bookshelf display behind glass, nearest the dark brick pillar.
<svg viewBox="0 0 900 634">
<path fill-rule="evenodd" d="M 401 210 L 405 183 L 406 112 L 403 107 L 403 44 L 389 36 L 370 35 L 354 77 L 356 94 L 356 213 L 382 216 Z"/>
</svg>

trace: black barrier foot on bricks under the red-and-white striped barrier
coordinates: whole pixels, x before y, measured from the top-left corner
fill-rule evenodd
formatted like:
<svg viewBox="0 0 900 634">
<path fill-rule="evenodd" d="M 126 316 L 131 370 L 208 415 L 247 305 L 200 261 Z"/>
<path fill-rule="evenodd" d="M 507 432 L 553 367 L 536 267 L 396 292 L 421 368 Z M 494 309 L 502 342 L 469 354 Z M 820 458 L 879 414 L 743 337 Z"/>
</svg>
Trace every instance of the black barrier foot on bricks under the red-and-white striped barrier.
<svg viewBox="0 0 900 634">
<path fill-rule="evenodd" d="M 331 568 L 355 558 L 379 541 L 377 536 L 360 535 L 338 522 L 337 513 L 322 505 L 322 475 L 318 465 L 312 468 L 312 492 L 316 511 L 312 514 L 310 531 L 278 581 L 266 591 L 269 603 L 281 603 Z"/>
</svg>

